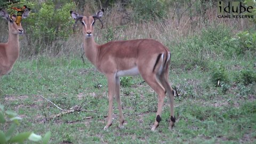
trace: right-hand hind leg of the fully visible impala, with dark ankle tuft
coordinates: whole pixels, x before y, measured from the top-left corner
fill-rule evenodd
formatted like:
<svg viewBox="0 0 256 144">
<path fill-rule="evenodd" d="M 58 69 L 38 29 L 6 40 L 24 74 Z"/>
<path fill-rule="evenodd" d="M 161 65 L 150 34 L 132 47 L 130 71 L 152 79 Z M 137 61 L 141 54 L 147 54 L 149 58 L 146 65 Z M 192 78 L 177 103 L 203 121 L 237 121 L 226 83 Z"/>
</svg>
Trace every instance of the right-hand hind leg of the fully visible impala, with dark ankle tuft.
<svg viewBox="0 0 256 144">
<path fill-rule="evenodd" d="M 171 109 L 171 121 L 169 123 L 169 129 L 172 129 L 175 123 L 175 116 L 174 116 L 174 91 L 168 82 L 168 69 L 165 69 L 164 73 L 159 76 L 159 81 L 164 86 L 164 89 L 167 92 L 167 95 L 170 100 L 170 109 Z"/>
</svg>

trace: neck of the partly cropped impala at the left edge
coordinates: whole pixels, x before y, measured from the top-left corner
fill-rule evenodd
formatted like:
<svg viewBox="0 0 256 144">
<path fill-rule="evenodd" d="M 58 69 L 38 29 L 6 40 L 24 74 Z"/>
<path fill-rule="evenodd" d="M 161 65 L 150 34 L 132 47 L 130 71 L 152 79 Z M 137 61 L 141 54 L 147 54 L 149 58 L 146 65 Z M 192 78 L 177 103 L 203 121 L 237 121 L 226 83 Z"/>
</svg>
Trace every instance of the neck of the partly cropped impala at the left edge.
<svg viewBox="0 0 256 144">
<path fill-rule="evenodd" d="M 6 55 L 7 59 L 15 62 L 15 60 L 17 60 L 19 57 L 20 52 L 19 35 L 12 33 L 10 25 L 11 24 L 9 23 L 9 38 L 7 42 L 8 46 L 6 47 Z"/>
</svg>

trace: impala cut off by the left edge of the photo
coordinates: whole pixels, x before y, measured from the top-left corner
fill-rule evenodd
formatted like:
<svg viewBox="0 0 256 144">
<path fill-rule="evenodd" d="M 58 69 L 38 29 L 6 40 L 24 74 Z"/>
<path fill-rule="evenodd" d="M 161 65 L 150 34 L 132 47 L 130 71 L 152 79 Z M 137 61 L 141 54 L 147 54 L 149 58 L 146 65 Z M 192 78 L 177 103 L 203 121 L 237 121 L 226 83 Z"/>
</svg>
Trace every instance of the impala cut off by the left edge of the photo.
<svg viewBox="0 0 256 144">
<path fill-rule="evenodd" d="M 27 8 L 22 19 L 28 17 L 30 9 Z M 8 21 L 9 38 L 7 43 L 0 43 L 0 77 L 10 73 L 15 61 L 19 57 L 19 34 L 23 34 L 20 22 L 16 22 L 16 15 L 9 15 L 4 9 L 0 9 L 0 16 Z"/>
</svg>

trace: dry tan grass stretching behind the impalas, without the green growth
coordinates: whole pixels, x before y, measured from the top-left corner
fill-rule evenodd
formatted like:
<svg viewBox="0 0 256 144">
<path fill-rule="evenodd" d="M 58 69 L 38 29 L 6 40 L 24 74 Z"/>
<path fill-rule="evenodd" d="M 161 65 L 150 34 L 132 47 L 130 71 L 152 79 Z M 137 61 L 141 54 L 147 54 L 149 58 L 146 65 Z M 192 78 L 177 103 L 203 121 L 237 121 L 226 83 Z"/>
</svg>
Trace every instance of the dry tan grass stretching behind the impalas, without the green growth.
<svg viewBox="0 0 256 144">
<path fill-rule="evenodd" d="M 98 7 L 92 6 L 84 7 L 84 15 L 93 14 L 92 11 L 97 11 Z M 94 31 L 95 41 L 99 44 L 106 43 L 110 39 L 106 37 L 112 36 L 111 41 L 126 40 L 126 39 L 139 39 L 139 38 L 153 38 L 165 45 L 170 41 L 179 43 L 189 35 L 197 35 L 204 28 L 209 26 L 226 25 L 233 28 L 234 33 L 237 31 L 252 28 L 253 24 L 248 19 L 220 19 L 217 18 L 216 8 L 211 7 L 208 9 L 204 16 L 200 14 L 193 14 L 185 12 L 178 22 L 177 14 L 174 9 L 170 9 L 169 15 L 164 20 L 149 21 L 138 23 L 131 18 L 131 9 L 124 9 L 121 4 L 116 4 L 113 7 L 106 9 L 103 15 L 103 29 L 100 29 L 100 22 L 97 22 Z M 194 12 L 195 13 L 195 12 Z M 71 18 L 70 18 L 71 20 Z M 1 42 L 7 40 L 7 25 L 5 20 L 1 20 Z M 24 26 L 23 26 L 24 27 Z M 26 28 L 26 26 L 25 26 Z M 29 34 L 27 34 L 29 35 Z M 27 35 L 20 36 L 21 57 L 31 57 L 35 54 L 37 41 L 28 42 Z M 70 34 L 70 37 L 65 40 L 53 41 L 51 45 L 47 45 L 47 50 L 41 50 L 38 54 L 44 55 L 69 55 L 81 54 L 82 47 L 82 31 L 81 25 L 78 23 L 76 33 Z"/>
</svg>

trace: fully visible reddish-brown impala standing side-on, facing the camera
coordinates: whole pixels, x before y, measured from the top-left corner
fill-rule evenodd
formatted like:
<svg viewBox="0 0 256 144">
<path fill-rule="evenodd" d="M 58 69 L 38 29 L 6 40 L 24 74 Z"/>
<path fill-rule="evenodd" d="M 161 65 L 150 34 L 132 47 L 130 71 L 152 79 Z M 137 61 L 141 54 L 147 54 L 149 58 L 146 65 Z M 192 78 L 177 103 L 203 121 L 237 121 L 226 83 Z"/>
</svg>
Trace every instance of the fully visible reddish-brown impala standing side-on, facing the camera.
<svg viewBox="0 0 256 144">
<path fill-rule="evenodd" d="M 120 76 L 141 75 L 148 85 L 158 94 L 156 120 L 151 130 L 155 130 L 161 121 L 164 97 L 170 98 L 172 128 L 175 122 L 173 101 L 174 91 L 168 82 L 168 68 L 171 54 L 167 47 L 153 39 L 135 39 L 131 41 L 114 41 L 98 45 L 93 39 L 93 25 L 100 20 L 104 10 L 89 17 L 70 11 L 75 24 L 83 25 L 83 45 L 86 58 L 103 73 L 108 80 L 108 122 L 104 130 L 112 124 L 113 96 L 115 95 L 119 109 L 119 127 L 123 127 L 124 116 L 120 100 Z M 101 28 L 102 28 L 102 21 Z M 75 25 L 74 25 L 75 28 Z"/>
</svg>

